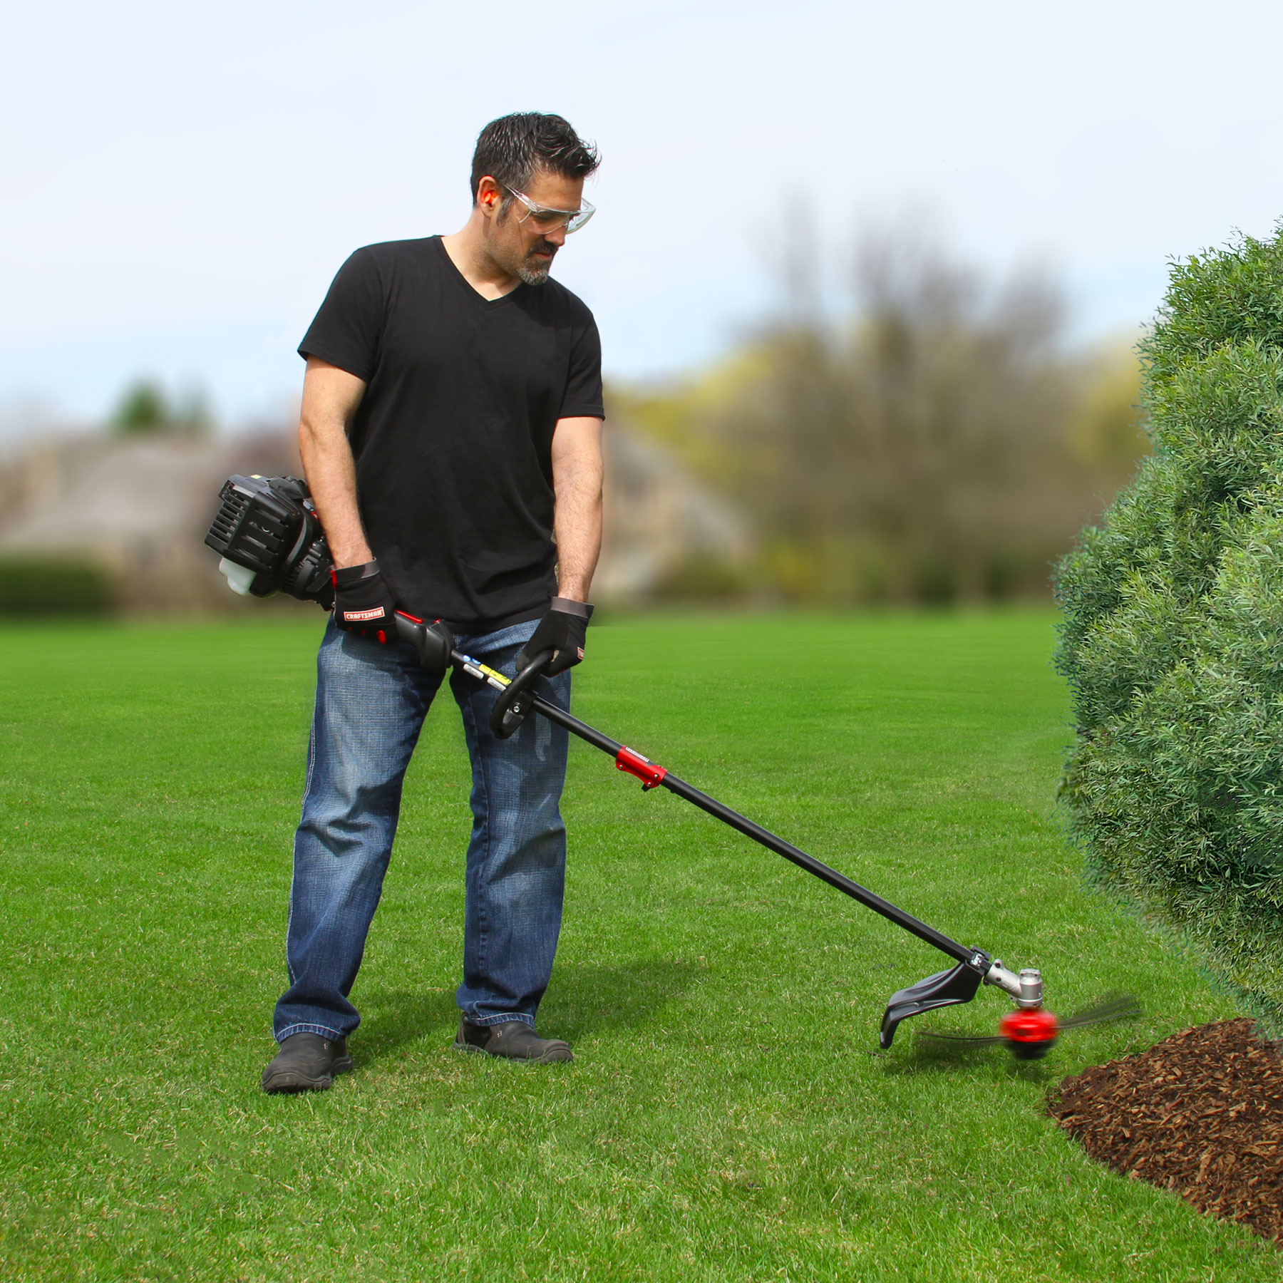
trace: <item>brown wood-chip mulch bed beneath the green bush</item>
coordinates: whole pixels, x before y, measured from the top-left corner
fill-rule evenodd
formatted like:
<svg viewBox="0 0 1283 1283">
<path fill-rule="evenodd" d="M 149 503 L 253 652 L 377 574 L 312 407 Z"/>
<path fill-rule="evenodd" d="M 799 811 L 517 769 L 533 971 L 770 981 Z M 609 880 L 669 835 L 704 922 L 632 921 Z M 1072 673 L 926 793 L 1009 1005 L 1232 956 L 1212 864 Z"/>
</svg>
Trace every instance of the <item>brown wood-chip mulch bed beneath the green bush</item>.
<svg viewBox="0 0 1283 1283">
<path fill-rule="evenodd" d="M 1115 1171 L 1283 1243 L 1283 1055 L 1252 1026 L 1200 1025 L 1094 1065 L 1048 1112 Z"/>
</svg>

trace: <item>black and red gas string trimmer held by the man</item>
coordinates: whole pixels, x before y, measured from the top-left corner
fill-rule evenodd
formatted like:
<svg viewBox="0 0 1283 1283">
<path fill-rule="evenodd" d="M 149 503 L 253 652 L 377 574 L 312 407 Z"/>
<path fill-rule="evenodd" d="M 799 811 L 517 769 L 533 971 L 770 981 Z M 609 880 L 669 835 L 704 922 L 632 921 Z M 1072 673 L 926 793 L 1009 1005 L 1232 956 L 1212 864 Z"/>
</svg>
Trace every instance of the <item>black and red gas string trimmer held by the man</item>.
<svg viewBox="0 0 1283 1283">
<path fill-rule="evenodd" d="M 277 589 L 284 589 L 305 600 L 321 600 L 322 604 L 328 604 L 325 600 L 328 550 L 302 481 L 291 477 L 236 476 L 223 486 L 219 498 L 223 503 L 205 543 L 222 554 L 221 568 L 236 591 L 266 597 Z M 815 856 L 807 854 L 793 843 L 785 842 L 693 784 L 688 784 L 667 767 L 611 739 L 609 735 L 604 735 L 536 694 L 535 683 L 552 652 L 545 650 L 534 656 L 516 677 L 508 677 L 459 650 L 449 627 L 440 620 L 425 621 L 398 611 L 396 634 L 399 640 L 413 647 L 423 667 L 436 670 L 457 667 L 499 692 L 490 716 L 490 729 L 500 739 L 512 735 L 530 713 L 538 713 L 615 758 L 616 767 L 636 776 L 642 781 L 643 790 L 663 788 L 675 793 L 952 958 L 952 967 L 937 971 L 925 980 L 919 980 L 917 984 L 890 996 L 883 1012 L 879 1035 L 883 1048 L 890 1047 L 896 1029 L 903 1020 L 924 1011 L 970 1002 L 981 984 L 1001 989 L 1015 1001 L 1016 1010 L 1007 1012 L 996 1037 L 957 1041 L 973 1044 L 1005 1043 L 1021 1060 L 1038 1060 L 1046 1056 L 1062 1028 L 1114 1020 L 1133 1015 L 1138 1010 L 1133 999 L 1119 999 L 1079 1012 L 1064 1023 L 1058 1021 L 1043 1006 L 1043 980 L 1035 967 L 1011 971 L 987 951 L 960 944 L 898 905 L 883 899 L 875 892 L 839 874 L 837 869 L 830 869 Z"/>
</svg>

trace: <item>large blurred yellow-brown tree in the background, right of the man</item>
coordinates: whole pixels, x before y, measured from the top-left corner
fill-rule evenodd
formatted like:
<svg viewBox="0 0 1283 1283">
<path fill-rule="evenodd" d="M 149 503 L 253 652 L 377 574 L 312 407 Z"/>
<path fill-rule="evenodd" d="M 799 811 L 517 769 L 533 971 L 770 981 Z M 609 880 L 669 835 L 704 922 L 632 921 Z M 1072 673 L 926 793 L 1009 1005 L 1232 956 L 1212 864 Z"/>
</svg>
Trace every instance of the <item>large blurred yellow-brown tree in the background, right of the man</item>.
<svg viewBox="0 0 1283 1283">
<path fill-rule="evenodd" d="M 788 597 L 1048 591 L 1146 449 L 1134 355 L 1071 357 L 1051 282 L 985 282 L 907 234 L 860 246 L 854 322 L 789 277 L 756 340 L 685 387 L 612 390 L 615 412 L 742 503 Z"/>
</svg>

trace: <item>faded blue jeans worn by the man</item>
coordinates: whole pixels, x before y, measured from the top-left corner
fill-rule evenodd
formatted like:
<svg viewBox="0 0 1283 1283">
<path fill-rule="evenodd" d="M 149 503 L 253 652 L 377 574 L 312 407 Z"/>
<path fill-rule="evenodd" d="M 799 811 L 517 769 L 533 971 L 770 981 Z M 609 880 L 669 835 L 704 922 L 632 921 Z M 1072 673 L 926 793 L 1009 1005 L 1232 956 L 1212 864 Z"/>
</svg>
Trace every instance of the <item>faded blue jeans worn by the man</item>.
<svg viewBox="0 0 1283 1283">
<path fill-rule="evenodd" d="M 538 621 L 462 634 L 458 648 L 513 676 Z M 317 702 L 303 819 L 294 839 L 286 938 L 290 988 L 276 1005 L 277 1042 L 296 1033 L 345 1038 L 361 1023 L 348 1001 L 378 906 L 400 813 L 402 781 L 441 674 L 404 643 L 331 622 L 317 656 Z M 561 931 L 566 829 L 558 803 L 567 734 L 531 715 L 511 739 L 490 733 L 494 688 L 450 674 L 472 760 L 472 838 L 457 1001 L 480 1025 L 534 1024 Z M 570 708 L 570 674 L 540 679 Z"/>
</svg>

